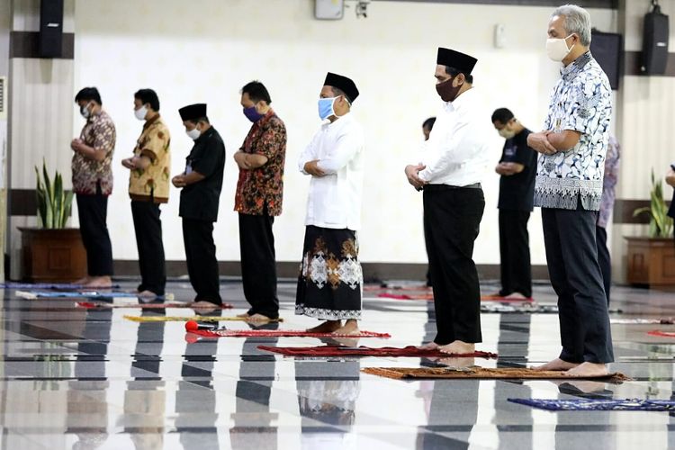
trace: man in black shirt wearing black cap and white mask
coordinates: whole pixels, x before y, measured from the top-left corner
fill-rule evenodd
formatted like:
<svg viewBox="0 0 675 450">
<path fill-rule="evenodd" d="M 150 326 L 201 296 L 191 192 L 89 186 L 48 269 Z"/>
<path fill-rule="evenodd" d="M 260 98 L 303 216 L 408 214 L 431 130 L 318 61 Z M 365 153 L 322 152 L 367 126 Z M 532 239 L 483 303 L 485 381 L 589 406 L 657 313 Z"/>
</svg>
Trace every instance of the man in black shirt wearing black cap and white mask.
<svg viewBox="0 0 675 450">
<path fill-rule="evenodd" d="M 185 133 L 194 140 L 186 158 L 185 171 L 171 180 L 183 188 L 179 215 L 183 218 L 183 240 L 187 273 L 195 293 L 193 306 L 222 304 L 213 222 L 218 219 L 218 202 L 225 168 L 225 144 L 206 116 L 206 104 L 178 110 Z"/>
</svg>

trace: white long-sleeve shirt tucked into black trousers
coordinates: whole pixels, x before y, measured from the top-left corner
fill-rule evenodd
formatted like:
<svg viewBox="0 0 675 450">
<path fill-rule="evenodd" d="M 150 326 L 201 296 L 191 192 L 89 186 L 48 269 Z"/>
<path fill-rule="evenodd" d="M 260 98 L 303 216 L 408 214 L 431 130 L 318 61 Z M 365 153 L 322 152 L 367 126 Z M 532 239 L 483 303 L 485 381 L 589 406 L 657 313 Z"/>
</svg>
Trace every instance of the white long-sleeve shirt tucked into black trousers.
<svg viewBox="0 0 675 450">
<path fill-rule="evenodd" d="M 490 113 L 475 88 L 445 102 L 425 142 L 419 177 L 429 184 L 467 186 L 481 183 L 490 164 Z"/>
</svg>

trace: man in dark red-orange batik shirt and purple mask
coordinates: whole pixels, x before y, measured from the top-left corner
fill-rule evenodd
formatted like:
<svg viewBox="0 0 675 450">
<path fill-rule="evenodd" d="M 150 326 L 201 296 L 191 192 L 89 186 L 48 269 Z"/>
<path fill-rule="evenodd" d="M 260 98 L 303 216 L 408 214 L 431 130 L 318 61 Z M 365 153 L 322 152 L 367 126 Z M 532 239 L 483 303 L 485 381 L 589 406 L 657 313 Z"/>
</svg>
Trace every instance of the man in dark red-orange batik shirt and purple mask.
<svg viewBox="0 0 675 450">
<path fill-rule="evenodd" d="M 239 213 L 244 296 L 251 305 L 240 317 L 251 321 L 279 318 L 272 225 L 282 212 L 286 127 L 270 103 L 272 99 L 259 81 L 241 89 L 241 106 L 253 125 L 234 154 L 239 166 L 234 210 Z"/>
</svg>

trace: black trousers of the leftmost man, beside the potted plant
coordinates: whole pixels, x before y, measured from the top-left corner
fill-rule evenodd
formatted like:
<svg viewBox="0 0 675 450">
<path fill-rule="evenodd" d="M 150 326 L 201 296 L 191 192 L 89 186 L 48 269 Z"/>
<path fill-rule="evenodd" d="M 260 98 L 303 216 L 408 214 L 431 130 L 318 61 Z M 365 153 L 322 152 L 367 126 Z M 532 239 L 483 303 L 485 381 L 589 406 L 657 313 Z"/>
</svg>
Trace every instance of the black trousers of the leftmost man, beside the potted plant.
<svg viewBox="0 0 675 450">
<path fill-rule="evenodd" d="M 80 234 L 86 250 L 86 273 L 89 276 L 112 275 L 112 244 L 106 223 L 108 196 L 76 194 Z"/>
</svg>

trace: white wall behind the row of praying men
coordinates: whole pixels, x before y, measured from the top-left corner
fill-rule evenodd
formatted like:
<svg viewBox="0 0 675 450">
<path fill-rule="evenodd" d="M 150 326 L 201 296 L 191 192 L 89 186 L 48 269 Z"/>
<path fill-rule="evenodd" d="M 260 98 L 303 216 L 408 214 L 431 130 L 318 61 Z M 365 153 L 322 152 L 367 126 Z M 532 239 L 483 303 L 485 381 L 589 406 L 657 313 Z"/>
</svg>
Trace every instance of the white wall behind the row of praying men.
<svg viewBox="0 0 675 450">
<path fill-rule="evenodd" d="M 548 93 L 558 67 L 545 57 L 551 8 L 475 4 L 373 2 L 367 19 L 348 9 L 342 21 L 314 20 L 311 0 L 179 0 L 137 2 L 76 0 L 76 89 L 96 85 L 118 130 L 115 189 L 108 224 L 116 259 L 135 259 L 136 247 L 126 195 L 127 157 L 141 124 L 132 114 L 132 94 L 157 91 L 172 133 L 173 172 L 182 171 L 191 141 L 177 109 L 209 103 L 209 116 L 228 150 L 215 237 L 221 260 L 238 260 L 237 215 L 232 211 L 237 180 L 232 153 L 250 122 L 241 113 L 239 88 L 251 79 L 268 87 L 275 111 L 289 132 L 284 214 L 275 222 L 277 258 L 295 261 L 302 249 L 304 205 L 309 180 L 296 158 L 320 125 L 316 100 L 327 71 L 356 80 L 362 94 L 353 112 L 367 133 L 362 259 L 369 262 L 426 261 L 421 195 L 406 183 L 403 167 L 417 161 L 421 122 L 434 115 L 439 99 L 433 77 L 438 46 L 479 59 L 474 85 L 494 108 L 508 106 L 533 130 L 543 123 Z M 595 25 L 616 29 L 616 13 L 592 10 Z M 494 49 L 496 23 L 507 31 L 507 47 Z M 73 106 L 73 113 L 76 108 Z M 82 121 L 75 121 L 76 134 Z M 495 164 L 502 140 L 496 132 Z M 63 151 L 69 151 L 67 142 Z M 498 176 L 486 177 L 486 210 L 475 259 L 499 263 Z M 184 259 L 178 192 L 163 209 L 167 259 Z M 545 264 L 538 211 L 530 222 L 533 263 Z"/>
</svg>

